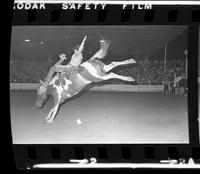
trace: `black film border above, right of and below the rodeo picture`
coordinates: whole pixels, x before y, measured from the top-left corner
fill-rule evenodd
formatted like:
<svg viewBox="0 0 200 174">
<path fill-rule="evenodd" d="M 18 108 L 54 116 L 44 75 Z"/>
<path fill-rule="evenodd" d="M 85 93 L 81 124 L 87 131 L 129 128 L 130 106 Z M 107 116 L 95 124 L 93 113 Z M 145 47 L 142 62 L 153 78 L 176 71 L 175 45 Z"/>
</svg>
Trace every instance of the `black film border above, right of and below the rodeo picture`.
<svg viewBox="0 0 200 174">
<path fill-rule="evenodd" d="M 38 163 L 67 163 L 70 159 L 98 157 L 98 162 L 106 163 L 159 163 L 162 159 L 189 159 L 200 162 L 200 144 L 198 133 L 198 36 L 200 21 L 196 15 L 200 6 L 195 5 L 157 5 L 153 10 L 124 11 L 118 5 L 107 5 L 107 19 L 98 22 L 99 10 L 79 13 L 83 21 L 74 20 L 77 10 L 67 13 L 60 11 L 59 4 L 48 4 L 45 11 L 13 10 L 13 26 L 21 25 L 187 25 L 188 26 L 188 144 L 13 144 L 17 168 L 29 169 Z M 56 11 L 54 14 L 52 11 Z M 59 11 L 59 12 L 58 12 Z M 119 13 L 119 11 L 121 13 Z M 170 11 L 177 20 L 169 21 Z M 91 13 L 93 15 L 91 15 Z M 102 11 L 100 12 L 102 13 Z M 123 13 L 128 13 L 130 20 L 121 21 Z M 51 15 L 59 16 L 60 20 L 51 21 Z M 67 15 L 66 15 L 67 14 Z M 112 15 L 110 15 L 112 14 Z M 154 16 L 153 20 L 145 21 L 145 14 Z M 127 14 L 126 14 L 127 15 Z M 126 16 L 125 15 L 125 16 Z M 148 16 L 146 15 L 146 16 Z M 115 16 L 115 18 L 113 18 Z M 173 18 L 174 15 L 172 15 Z M 79 17 L 78 17 L 79 18 Z M 148 18 L 148 17 L 147 17 Z M 156 19 L 155 19 L 156 18 Z M 48 19 L 48 20 L 47 20 Z M 28 21 L 27 21 L 28 20 Z M 194 78 L 196 77 L 196 78 Z M 101 152 L 99 154 L 99 152 Z"/>
</svg>

